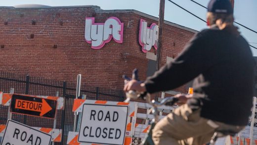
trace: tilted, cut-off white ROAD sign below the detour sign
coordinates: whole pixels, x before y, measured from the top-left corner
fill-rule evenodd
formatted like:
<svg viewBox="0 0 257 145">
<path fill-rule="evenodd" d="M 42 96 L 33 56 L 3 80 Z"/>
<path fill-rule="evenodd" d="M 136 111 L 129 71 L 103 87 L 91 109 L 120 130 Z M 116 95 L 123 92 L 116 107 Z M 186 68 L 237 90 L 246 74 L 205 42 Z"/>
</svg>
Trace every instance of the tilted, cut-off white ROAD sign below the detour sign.
<svg viewBox="0 0 257 145">
<path fill-rule="evenodd" d="M 51 136 L 25 124 L 8 120 L 1 145 L 49 145 Z"/>
</svg>

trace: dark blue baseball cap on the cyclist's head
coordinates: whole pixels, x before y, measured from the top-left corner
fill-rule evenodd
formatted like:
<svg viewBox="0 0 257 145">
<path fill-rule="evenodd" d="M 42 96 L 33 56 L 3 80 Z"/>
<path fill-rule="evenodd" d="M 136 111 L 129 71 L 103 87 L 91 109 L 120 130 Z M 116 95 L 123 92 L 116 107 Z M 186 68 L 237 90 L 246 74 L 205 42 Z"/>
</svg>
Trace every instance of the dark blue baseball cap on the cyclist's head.
<svg viewBox="0 0 257 145">
<path fill-rule="evenodd" d="M 208 12 L 232 14 L 233 8 L 229 0 L 211 0 Z"/>
</svg>

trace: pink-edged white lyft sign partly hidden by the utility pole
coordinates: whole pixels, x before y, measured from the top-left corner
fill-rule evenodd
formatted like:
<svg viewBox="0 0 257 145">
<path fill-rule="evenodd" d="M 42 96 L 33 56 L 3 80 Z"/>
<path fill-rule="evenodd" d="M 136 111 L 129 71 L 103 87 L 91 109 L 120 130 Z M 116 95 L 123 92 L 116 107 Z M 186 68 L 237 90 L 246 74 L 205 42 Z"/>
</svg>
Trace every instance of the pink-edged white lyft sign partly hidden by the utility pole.
<svg viewBox="0 0 257 145">
<path fill-rule="evenodd" d="M 147 22 L 140 20 L 139 26 L 139 44 L 142 46 L 142 51 L 147 52 L 151 50 L 152 46 L 157 49 L 158 42 L 158 25 L 153 23 L 150 28 L 147 27 Z"/>
</svg>

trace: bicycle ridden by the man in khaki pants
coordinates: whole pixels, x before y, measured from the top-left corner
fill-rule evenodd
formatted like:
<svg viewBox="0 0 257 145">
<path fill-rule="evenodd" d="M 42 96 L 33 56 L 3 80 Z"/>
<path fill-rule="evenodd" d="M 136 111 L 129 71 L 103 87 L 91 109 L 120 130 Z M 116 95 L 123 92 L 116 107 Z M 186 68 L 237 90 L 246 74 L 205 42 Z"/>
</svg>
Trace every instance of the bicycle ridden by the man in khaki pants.
<svg viewBox="0 0 257 145">
<path fill-rule="evenodd" d="M 134 69 L 132 72 L 132 78 L 127 77 L 126 75 L 123 76 L 123 78 L 125 79 L 125 84 L 127 83 L 127 81 L 130 81 L 132 79 L 135 79 L 137 81 L 138 80 L 138 75 L 137 75 L 138 71 L 137 69 Z M 125 102 L 129 102 L 130 99 L 137 99 L 137 98 L 143 98 L 144 100 L 146 100 L 147 103 L 149 103 L 150 105 L 152 105 L 152 108 L 150 109 L 154 115 L 154 118 L 151 121 L 151 126 L 147 132 L 147 135 L 145 136 L 142 145 L 154 145 L 154 142 L 152 140 L 152 130 L 155 127 L 155 124 L 159 121 L 159 115 L 158 115 L 158 107 L 162 106 L 162 105 L 169 105 L 172 106 L 174 105 L 174 103 L 176 103 L 178 101 L 178 98 L 176 97 L 165 97 L 161 102 L 158 102 L 156 100 L 151 100 L 151 96 L 148 93 L 144 93 L 141 94 L 140 92 L 135 92 L 135 91 L 129 91 L 126 93 L 126 97 L 127 99 L 125 100 Z M 218 138 L 221 137 L 225 137 L 225 136 L 235 136 L 237 134 L 237 132 L 231 131 L 231 130 L 222 130 L 222 129 L 218 129 L 215 131 L 213 137 L 211 138 L 211 141 L 209 143 L 209 145 L 215 145 L 215 142 Z"/>
</svg>

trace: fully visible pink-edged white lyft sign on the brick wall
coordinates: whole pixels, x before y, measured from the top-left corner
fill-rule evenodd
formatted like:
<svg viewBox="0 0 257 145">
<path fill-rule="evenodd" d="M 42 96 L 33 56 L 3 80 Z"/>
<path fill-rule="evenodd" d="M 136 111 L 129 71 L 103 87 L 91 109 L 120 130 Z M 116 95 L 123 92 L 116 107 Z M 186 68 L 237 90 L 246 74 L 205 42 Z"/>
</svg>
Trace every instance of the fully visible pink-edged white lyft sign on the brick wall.
<svg viewBox="0 0 257 145">
<path fill-rule="evenodd" d="M 85 39 L 91 48 L 100 49 L 112 38 L 123 42 L 123 23 L 117 17 L 109 17 L 105 23 L 94 23 L 94 17 L 86 17 Z"/>
</svg>

